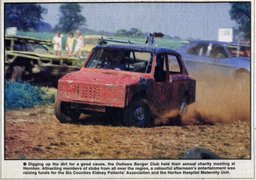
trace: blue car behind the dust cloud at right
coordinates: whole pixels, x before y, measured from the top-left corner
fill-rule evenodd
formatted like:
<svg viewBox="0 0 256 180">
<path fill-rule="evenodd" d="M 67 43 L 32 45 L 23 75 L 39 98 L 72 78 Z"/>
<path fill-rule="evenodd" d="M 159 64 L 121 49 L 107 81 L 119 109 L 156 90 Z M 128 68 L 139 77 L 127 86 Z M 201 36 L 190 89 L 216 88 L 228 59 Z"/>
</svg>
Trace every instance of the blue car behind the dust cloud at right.
<svg viewBox="0 0 256 180">
<path fill-rule="evenodd" d="M 250 45 L 221 41 L 191 41 L 176 49 L 196 79 L 234 77 L 250 80 Z"/>
</svg>

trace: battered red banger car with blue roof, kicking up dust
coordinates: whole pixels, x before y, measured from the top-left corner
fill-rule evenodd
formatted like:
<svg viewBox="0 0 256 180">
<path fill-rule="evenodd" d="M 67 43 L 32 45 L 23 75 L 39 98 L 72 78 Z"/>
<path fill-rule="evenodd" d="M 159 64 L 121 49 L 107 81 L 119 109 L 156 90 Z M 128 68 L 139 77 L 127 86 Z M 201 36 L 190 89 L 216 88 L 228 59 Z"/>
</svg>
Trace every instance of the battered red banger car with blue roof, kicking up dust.
<svg viewBox="0 0 256 180">
<path fill-rule="evenodd" d="M 58 80 L 54 114 L 61 123 L 74 123 L 81 113 L 96 112 L 124 126 L 147 127 L 153 112 L 185 110 L 195 102 L 195 87 L 195 79 L 174 50 L 97 45 L 81 70 Z"/>
</svg>

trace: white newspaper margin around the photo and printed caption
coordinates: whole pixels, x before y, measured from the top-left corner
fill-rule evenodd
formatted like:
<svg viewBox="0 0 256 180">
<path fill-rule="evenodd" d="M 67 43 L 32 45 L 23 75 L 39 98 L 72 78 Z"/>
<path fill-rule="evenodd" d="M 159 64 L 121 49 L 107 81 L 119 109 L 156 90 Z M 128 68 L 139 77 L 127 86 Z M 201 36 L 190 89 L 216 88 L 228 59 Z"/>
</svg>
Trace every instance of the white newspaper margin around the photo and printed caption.
<svg viewBox="0 0 256 180">
<path fill-rule="evenodd" d="M 68 3 L 68 2 L 73 2 L 73 1 L 49 1 L 49 0 L 36 0 L 36 3 Z M 78 0 L 76 1 L 77 3 L 86 3 L 86 2 L 127 2 L 127 1 L 81 1 Z M 129 2 L 142 2 L 142 1 L 129 1 Z M 147 1 L 148 2 L 148 1 Z M 182 0 L 177 0 L 177 1 L 156 1 L 156 2 L 184 2 Z M 198 2 L 198 1 L 186 1 L 186 3 L 191 3 L 191 2 Z M 236 1 L 200 1 L 202 3 L 207 3 L 207 2 L 214 2 L 214 3 L 221 3 L 221 2 L 236 2 Z M 241 2 L 241 1 L 237 1 Z M 252 154 L 251 154 L 251 160 L 223 160 L 227 162 L 236 162 L 237 164 L 237 171 L 235 174 L 232 174 L 232 176 L 22 176 L 22 167 L 24 162 L 29 162 L 29 161 L 36 161 L 36 162 L 61 162 L 63 160 L 4 160 L 4 3 L 35 3 L 35 1 L 11 1 L 11 0 L 4 0 L 1 1 L 1 165 L 0 165 L 0 179 L 90 179 L 90 178 L 117 178 L 117 179 L 122 179 L 122 178 L 145 178 L 145 179 L 159 179 L 159 178 L 168 178 L 168 179 L 255 179 L 255 132 L 256 132 L 256 125 L 254 123 L 255 120 L 255 114 L 254 114 L 254 105 L 255 105 L 255 2 L 252 0 L 250 1 L 252 3 L 251 9 L 252 9 L 252 19 L 251 19 L 251 24 L 252 24 L 252 89 L 251 89 L 251 94 L 252 94 L 252 124 L 251 124 L 251 144 L 252 144 Z M 80 162 L 84 160 L 65 160 L 65 162 Z M 102 160 L 92 160 L 92 161 L 98 161 L 102 162 Z M 148 161 L 155 161 L 159 162 L 161 160 L 104 160 L 104 161 L 109 161 L 109 162 L 132 162 L 138 161 L 138 162 L 148 162 Z M 164 160 L 162 160 L 164 161 Z M 193 160 L 168 160 L 168 161 L 193 161 Z M 195 160 L 194 160 L 195 161 Z M 200 161 L 200 160 L 196 160 Z M 213 160 L 211 162 L 214 162 Z M 21 170 L 21 171 L 20 171 Z"/>
</svg>

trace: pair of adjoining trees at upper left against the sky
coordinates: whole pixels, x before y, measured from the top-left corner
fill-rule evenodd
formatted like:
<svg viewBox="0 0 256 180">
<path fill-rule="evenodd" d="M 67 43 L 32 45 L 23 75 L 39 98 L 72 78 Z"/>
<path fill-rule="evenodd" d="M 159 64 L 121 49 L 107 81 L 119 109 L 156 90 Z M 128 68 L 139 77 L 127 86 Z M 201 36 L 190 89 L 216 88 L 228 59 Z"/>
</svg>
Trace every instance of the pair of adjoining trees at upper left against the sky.
<svg viewBox="0 0 256 180">
<path fill-rule="evenodd" d="M 86 19 L 81 15 L 82 8 L 78 3 L 66 3 L 60 6 L 60 18 L 55 27 L 43 22 L 42 15 L 47 10 L 40 4 L 6 3 L 4 11 L 5 27 L 17 27 L 20 31 L 40 31 L 48 27 L 54 31 L 69 31 L 86 26 Z"/>
</svg>

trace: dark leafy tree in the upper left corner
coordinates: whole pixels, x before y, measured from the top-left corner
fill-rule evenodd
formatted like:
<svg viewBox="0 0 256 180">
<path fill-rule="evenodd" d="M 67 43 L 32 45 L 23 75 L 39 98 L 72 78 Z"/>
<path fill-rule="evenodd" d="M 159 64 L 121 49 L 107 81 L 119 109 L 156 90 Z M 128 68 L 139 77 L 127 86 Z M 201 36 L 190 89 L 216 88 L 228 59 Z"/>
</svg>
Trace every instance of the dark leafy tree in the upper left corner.
<svg viewBox="0 0 256 180">
<path fill-rule="evenodd" d="M 20 31 L 38 30 L 42 14 L 47 13 L 39 4 L 6 3 L 4 4 L 5 27 L 17 27 Z"/>
</svg>

